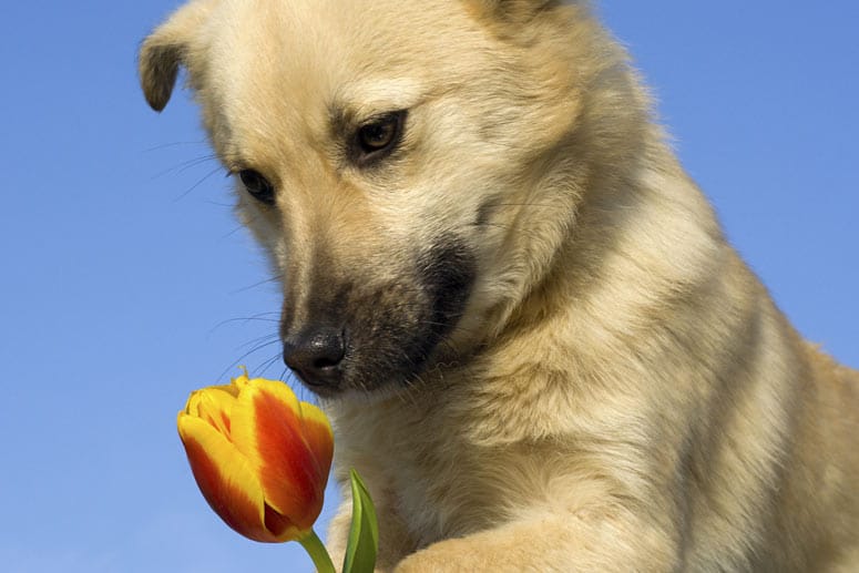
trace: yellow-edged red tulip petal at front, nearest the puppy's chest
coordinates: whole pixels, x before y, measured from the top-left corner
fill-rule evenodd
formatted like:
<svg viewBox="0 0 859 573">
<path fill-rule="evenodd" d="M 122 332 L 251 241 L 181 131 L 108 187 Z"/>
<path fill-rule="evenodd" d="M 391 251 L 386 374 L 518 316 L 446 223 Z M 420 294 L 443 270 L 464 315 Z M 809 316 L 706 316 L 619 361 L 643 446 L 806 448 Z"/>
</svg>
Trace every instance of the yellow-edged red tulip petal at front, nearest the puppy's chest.
<svg viewBox="0 0 859 573">
<path fill-rule="evenodd" d="M 303 434 L 300 406 L 283 382 L 253 379 L 233 410 L 233 440 L 259 477 L 266 502 L 303 531 L 323 505 L 327 471 Z"/>
</svg>

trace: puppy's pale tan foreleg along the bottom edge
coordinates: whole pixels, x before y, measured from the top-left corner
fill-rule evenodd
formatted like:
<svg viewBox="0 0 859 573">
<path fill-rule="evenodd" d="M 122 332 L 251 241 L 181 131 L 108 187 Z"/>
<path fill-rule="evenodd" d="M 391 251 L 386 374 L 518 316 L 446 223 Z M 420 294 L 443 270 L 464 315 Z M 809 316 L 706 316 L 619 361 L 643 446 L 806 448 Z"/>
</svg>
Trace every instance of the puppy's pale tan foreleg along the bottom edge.
<svg viewBox="0 0 859 573">
<path fill-rule="evenodd" d="M 676 535 L 616 509 L 545 514 L 410 555 L 397 573 L 429 572 L 669 572 L 682 569 Z"/>
</svg>

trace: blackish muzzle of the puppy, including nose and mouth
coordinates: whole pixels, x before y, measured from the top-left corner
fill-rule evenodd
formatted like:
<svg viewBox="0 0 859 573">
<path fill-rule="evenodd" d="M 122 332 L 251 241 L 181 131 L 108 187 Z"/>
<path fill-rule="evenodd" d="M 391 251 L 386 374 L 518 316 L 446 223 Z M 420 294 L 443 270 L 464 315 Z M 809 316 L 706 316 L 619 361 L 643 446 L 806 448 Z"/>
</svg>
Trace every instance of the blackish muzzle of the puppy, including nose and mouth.
<svg viewBox="0 0 859 573">
<path fill-rule="evenodd" d="M 417 257 L 403 279 L 371 289 L 355 283 L 324 289 L 333 294 L 314 308 L 325 311 L 295 331 L 286 301 L 284 361 L 325 398 L 420 381 L 430 364 L 450 358 L 452 349 L 443 342 L 466 310 L 475 266 L 464 245 L 449 241 Z"/>
</svg>

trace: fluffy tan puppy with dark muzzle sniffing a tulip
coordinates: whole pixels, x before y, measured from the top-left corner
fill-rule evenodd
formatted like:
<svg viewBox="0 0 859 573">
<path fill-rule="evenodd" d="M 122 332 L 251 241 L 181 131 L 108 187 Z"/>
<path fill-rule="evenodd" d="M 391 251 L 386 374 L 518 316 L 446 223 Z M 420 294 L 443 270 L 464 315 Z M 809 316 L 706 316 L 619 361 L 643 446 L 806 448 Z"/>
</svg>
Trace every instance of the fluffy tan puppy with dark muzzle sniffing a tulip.
<svg viewBox="0 0 859 573">
<path fill-rule="evenodd" d="M 193 0 L 142 43 L 153 109 L 180 68 L 378 571 L 859 571 L 859 372 L 585 2 Z"/>
</svg>

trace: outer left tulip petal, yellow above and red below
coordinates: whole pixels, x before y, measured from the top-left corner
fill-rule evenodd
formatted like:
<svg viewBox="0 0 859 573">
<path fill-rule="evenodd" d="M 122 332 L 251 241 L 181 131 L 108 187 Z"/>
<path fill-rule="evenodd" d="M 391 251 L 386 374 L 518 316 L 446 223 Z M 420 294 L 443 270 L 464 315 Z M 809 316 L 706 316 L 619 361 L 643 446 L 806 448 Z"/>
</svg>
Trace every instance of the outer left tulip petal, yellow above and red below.
<svg viewBox="0 0 859 573">
<path fill-rule="evenodd" d="M 227 525 L 260 542 L 287 541 L 297 535 L 297 529 L 284 523 L 278 524 L 278 534 L 266 528 L 259 480 L 225 436 L 207 421 L 185 413 L 180 413 L 177 426 L 200 491 Z"/>
</svg>

